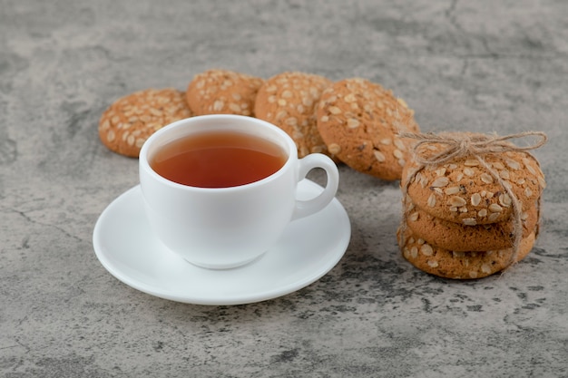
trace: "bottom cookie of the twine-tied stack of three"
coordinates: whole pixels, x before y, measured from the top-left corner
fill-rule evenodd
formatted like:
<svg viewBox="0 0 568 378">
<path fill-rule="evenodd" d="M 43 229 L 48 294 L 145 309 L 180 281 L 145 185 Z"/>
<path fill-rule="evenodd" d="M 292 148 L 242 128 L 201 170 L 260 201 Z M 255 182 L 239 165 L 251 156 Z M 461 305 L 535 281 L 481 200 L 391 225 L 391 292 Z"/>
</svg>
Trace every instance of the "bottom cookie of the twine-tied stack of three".
<svg viewBox="0 0 568 378">
<path fill-rule="evenodd" d="M 399 229 L 397 237 L 402 255 L 410 264 L 426 273 L 445 278 L 472 279 L 491 276 L 509 267 L 514 257 L 513 248 L 456 252 L 436 247 L 417 237 L 410 228 L 405 231 Z M 534 232 L 521 240 L 516 261 L 529 254 L 534 240 Z"/>
</svg>

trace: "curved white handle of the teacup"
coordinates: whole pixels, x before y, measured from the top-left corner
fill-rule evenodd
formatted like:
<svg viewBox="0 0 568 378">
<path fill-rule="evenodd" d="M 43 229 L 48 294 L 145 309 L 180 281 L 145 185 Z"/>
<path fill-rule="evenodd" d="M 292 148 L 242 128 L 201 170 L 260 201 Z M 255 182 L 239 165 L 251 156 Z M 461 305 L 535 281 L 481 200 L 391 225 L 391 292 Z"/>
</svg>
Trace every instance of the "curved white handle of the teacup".
<svg viewBox="0 0 568 378">
<path fill-rule="evenodd" d="M 315 168 L 321 168 L 326 171 L 326 175 L 328 176 L 326 188 L 313 199 L 297 199 L 296 208 L 292 214 L 292 220 L 308 217 L 311 214 L 317 213 L 322 208 L 328 206 L 328 203 L 335 198 L 339 186 L 338 166 L 333 160 L 322 153 L 312 153 L 299 160 L 298 180 L 305 179 L 308 172 Z"/>
</svg>

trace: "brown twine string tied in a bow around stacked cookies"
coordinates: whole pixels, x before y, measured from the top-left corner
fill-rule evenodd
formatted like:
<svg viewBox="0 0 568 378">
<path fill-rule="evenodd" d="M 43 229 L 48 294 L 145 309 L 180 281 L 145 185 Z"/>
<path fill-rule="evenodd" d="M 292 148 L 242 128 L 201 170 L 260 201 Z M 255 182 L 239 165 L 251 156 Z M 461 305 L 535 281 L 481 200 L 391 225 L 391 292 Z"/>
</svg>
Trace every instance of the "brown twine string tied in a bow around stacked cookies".
<svg viewBox="0 0 568 378">
<path fill-rule="evenodd" d="M 504 192 L 511 199 L 511 206 L 513 208 L 513 223 L 514 223 L 514 240 L 513 240 L 513 254 L 511 256 L 509 265 L 517 262 L 519 247 L 523 238 L 523 209 L 519 199 L 514 194 L 511 185 L 505 183 L 499 173 L 495 171 L 485 161 L 484 156 L 488 154 L 503 153 L 507 151 L 527 151 L 535 150 L 542 146 L 547 141 L 547 136 L 541 131 L 525 131 L 517 134 L 510 134 L 505 136 L 486 135 L 486 134 L 465 134 L 465 133 L 412 133 L 400 132 L 398 134 L 401 138 L 408 138 L 416 140 L 414 146 L 415 160 L 418 165 L 410 170 L 406 177 L 405 185 L 401 186 L 403 192 L 403 204 L 406 205 L 406 196 L 410 182 L 415 179 L 416 174 L 426 167 L 437 167 L 448 161 L 452 161 L 466 156 L 474 157 L 479 163 L 487 170 L 487 172 L 495 179 L 495 181 L 504 189 Z M 518 146 L 512 143 L 512 140 L 524 139 L 527 137 L 537 137 L 538 139 L 532 144 L 526 146 Z M 443 150 L 437 152 L 433 156 L 427 157 L 424 153 L 420 153 L 420 147 L 423 145 L 442 145 L 445 146 Z M 403 222 L 401 224 L 400 235 L 404 245 L 404 234 L 406 229 L 406 206 L 403 206 Z"/>
</svg>

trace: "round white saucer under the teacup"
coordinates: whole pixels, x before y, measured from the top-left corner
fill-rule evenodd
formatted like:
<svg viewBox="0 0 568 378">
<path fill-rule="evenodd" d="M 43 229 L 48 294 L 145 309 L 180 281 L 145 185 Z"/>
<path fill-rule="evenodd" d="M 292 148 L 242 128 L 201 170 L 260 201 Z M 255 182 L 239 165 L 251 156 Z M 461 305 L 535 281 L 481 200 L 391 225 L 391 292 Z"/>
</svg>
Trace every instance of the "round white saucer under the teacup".
<svg viewBox="0 0 568 378">
<path fill-rule="evenodd" d="M 304 179 L 299 199 L 322 190 Z M 150 229 L 140 186 L 104 209 L 93 231 L 96 256 L 113 276 L 152 296 L 197 305 L 240 305 L 284 296 L 335 267 L 351 237 L 338 199 L 318 213 L 291 222 L 279 244 L 244 267 L 195 267 L 163 247 Z"/>
</svg>

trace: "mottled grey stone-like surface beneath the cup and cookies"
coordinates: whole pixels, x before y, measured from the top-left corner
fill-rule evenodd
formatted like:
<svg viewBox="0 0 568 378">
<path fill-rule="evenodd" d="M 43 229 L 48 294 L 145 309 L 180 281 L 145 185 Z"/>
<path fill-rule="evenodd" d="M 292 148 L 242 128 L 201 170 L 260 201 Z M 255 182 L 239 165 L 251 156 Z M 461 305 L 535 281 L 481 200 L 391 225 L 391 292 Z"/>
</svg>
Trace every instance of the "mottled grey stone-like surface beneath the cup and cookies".
<svg viewBox="0 0 568 378">
<path fill-rule="evenodd" d="M 364 77 L 423 131 L 545 131 L 532 253 L 477 281 L 428 276 L 398 252 L 398 183 L 342 166 L 352 238 L 316 283 L 235 306 L 122 284 L 93 227 L 137 160 L 103 147 L 99 117 L 213 67 Z M 0 375 L 568 376 L 567 128 L 563 0 L 0 0 Z"/>
</svg>

